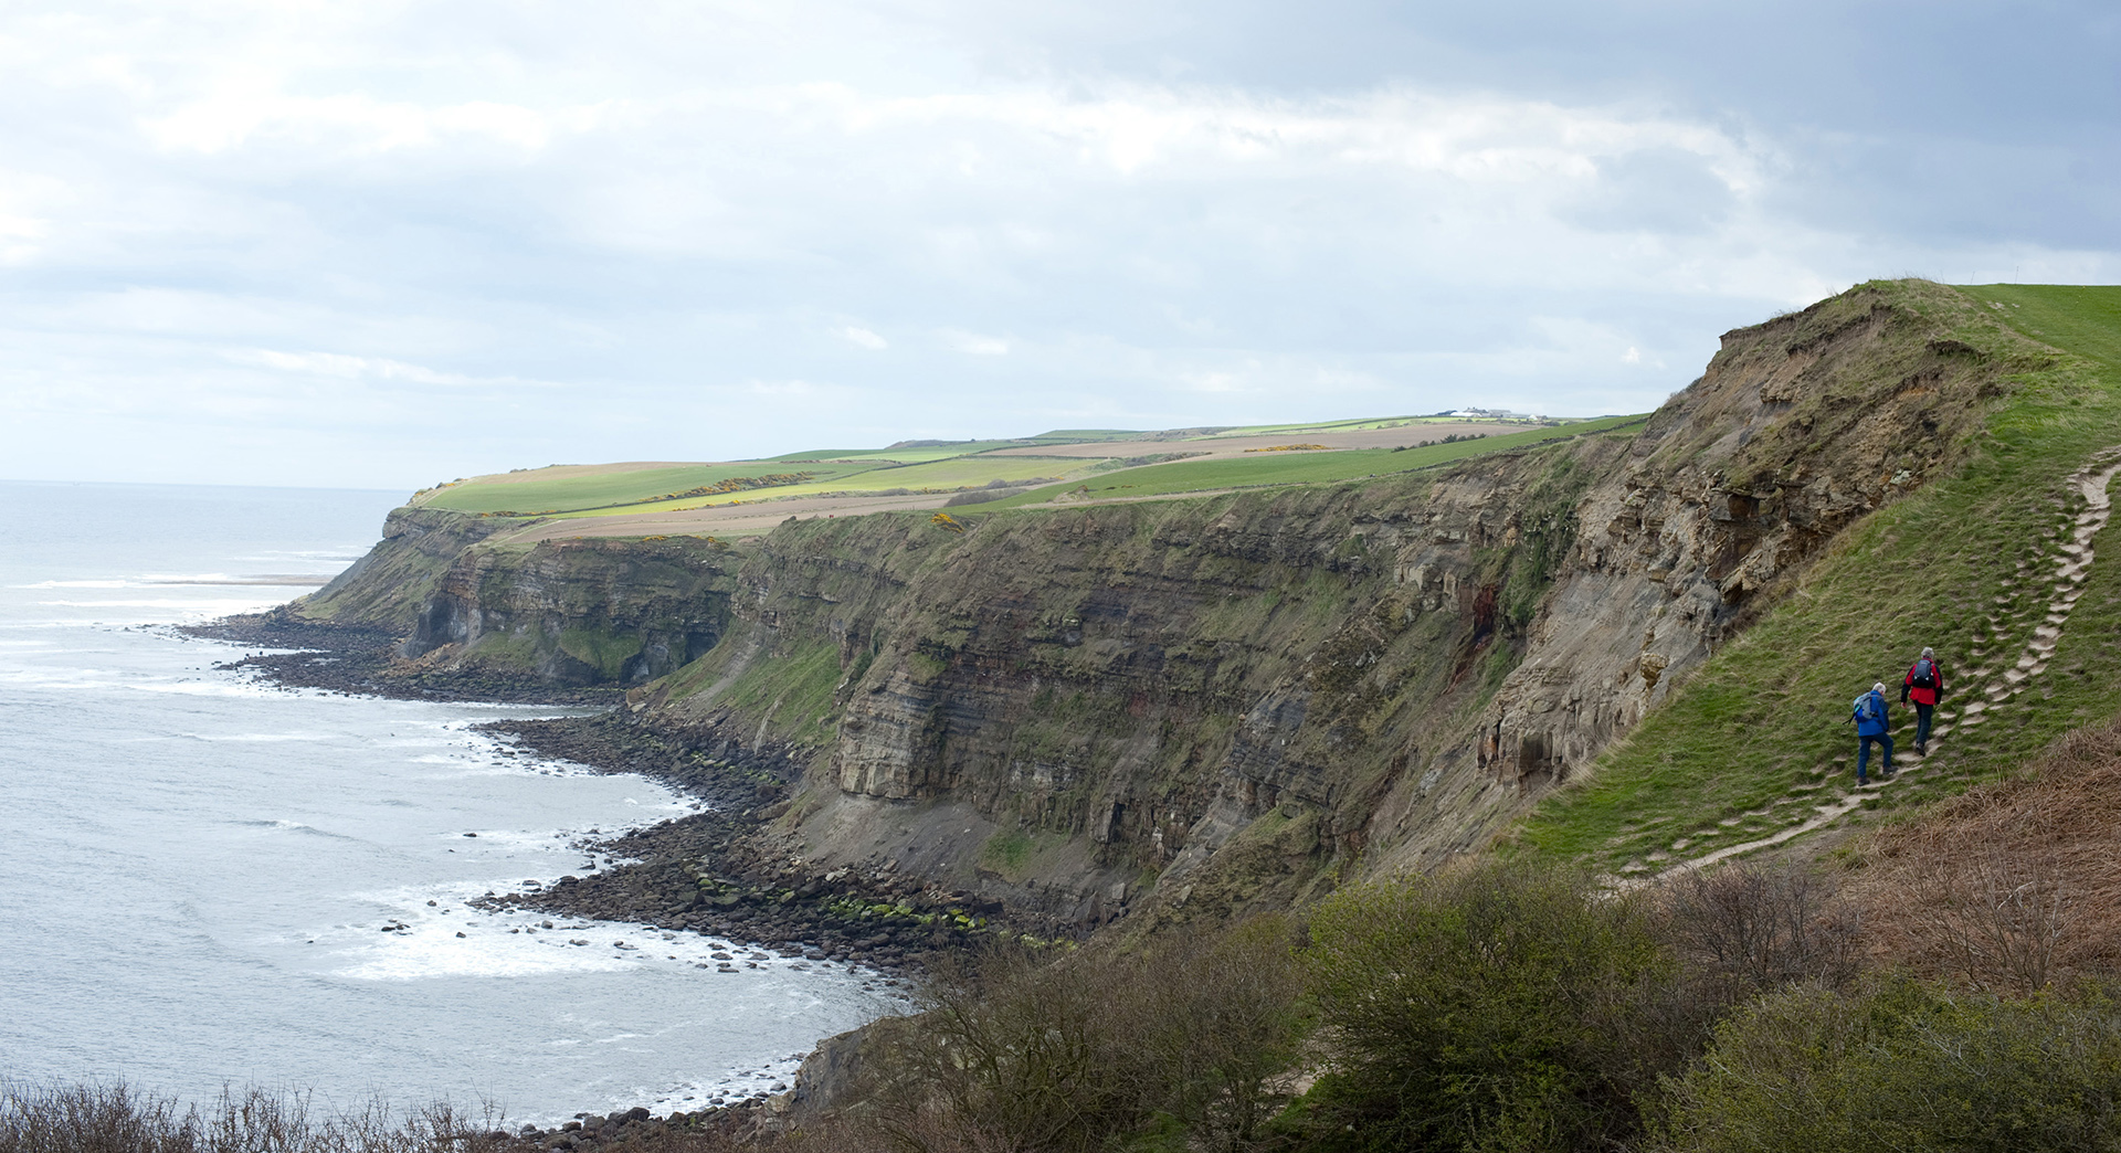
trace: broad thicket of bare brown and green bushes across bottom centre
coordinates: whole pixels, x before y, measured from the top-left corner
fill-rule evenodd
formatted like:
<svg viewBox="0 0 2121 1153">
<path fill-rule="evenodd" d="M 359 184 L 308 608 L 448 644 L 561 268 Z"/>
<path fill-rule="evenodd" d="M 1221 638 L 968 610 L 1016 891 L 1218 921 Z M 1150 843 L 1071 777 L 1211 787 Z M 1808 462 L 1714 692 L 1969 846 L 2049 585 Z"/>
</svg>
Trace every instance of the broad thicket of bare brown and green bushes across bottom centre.
<svg viewBox="0 0 2121 1153">
<path fill-rule="evenodd" d="M 1614 897 L 1487 863 L 1343 890 L 1307 924 L 1007 950 L 940 971 L 927 1013 L 878 1030 L 853 1111 L 867 1136 L 842 1136 L 921 1153 L 1637 1147 L 1718 1019 L 1763 992 L 1845 988 L 1852 941 L 1794 869 Z"/>
</svg>

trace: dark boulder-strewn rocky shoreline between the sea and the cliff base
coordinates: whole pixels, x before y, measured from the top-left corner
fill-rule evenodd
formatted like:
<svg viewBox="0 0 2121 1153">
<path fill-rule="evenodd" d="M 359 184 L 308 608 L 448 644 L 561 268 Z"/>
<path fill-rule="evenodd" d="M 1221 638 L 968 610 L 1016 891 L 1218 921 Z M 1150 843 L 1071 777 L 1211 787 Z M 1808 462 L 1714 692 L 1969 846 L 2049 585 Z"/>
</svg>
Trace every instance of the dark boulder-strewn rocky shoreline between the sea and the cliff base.
<svg viewBox="0 0 2121 1153">
<path fill-rule="evenodd" d="M 617 861 L 543 888 L 488 892 L 481 909 L 541 911 L 556 918 L 632 922 L 664 933 L 728 941 L 713 956 L 719 973 L 757 964 L 764 950 L 797 964 L 844 966 L 865 988 L 912 994 L 923 958 L 978 947 L 991 933 L 1012 933 L 1003 907 L 895 875 L 876 867 L 819 869 L 787 852 L 772 820 L 787 810 L 800 767 L 772 748 L 747 748 L 717 731 L 672 733 L 638 723 L 619 689 L 558 689 L 492 676 L 407 674 L 395 640 L 380 629 L 314 625 L 278 613 L 187 625 L 199 638 L 265 649 L 216 668 L 255 674 L 291 689 L 441 702 L 604 706 L 594 716 L 494 721 L 481 725 L 522 755 L 638 774 L 708 805 L 683 818 L 583 841 Z M 747 956 L 749 954 L 749 956 Z M 704 975 L 702 975 L 704 977 Z M 829 1039 L 827 1039 L 829 1041 Z M 744 1136 L 781 1123 L 789 1111 L 831 1100 L 831 1077 L 806 1062 L 781 1094 L 732 1096 L 694 1113 L 658 1117 L 647 1108 L 581 1113 L 575 1121 L 515 1134 L 490 1134 L 507 1149 L 600 1149 L 662 1134 Z"/>
</svg>

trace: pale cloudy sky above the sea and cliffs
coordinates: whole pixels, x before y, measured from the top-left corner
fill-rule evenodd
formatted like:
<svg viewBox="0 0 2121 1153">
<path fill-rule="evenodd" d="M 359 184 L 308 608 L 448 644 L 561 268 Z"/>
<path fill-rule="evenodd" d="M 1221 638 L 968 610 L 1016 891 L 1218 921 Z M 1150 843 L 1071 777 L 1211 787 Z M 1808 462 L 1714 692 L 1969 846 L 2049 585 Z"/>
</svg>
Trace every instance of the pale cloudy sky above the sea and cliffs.
<svg viewBox="0 0 2121 1153">
<path fill-rule="evenodd" d="M 2121 280 L 2121 6 L 0 6 L 0 477 L 1646 411 Z"/>
</svg>

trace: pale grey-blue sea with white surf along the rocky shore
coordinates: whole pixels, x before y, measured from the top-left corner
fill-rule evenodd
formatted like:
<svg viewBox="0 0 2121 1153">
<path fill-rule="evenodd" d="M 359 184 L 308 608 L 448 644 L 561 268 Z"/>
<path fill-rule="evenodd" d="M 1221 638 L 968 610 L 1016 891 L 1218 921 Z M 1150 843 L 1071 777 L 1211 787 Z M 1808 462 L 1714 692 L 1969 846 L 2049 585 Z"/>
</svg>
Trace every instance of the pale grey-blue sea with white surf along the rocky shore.
<svg viewBox="0 0 2121 1153">
<path fill-rule="evenodd" d="M 0 1079 L 549 1123 L 770 1094 L 897 1011 L 874 973 L 469 907 L 698 808 L 475 731 L 581 710 L 282 689 L 176 629 L 312 591 L 399 500 L 0 481 Z"/>
</svg>

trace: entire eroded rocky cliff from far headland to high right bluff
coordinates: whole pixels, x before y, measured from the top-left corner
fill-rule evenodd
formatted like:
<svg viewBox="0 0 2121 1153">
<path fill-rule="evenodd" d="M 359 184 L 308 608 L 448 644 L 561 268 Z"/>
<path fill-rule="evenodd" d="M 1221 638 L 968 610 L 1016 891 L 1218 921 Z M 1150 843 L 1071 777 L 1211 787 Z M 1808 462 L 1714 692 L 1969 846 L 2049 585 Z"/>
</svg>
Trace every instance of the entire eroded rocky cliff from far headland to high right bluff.
<svg viewBox="0 0 2121 1153">
<path fill-rule="evenodd" d="M 785 765 L 764 837 L 819 869 L 1050 924 L 1228 916 L 1480 846 L 1587 771 L 1841 530 L 1973 451 L 2045 356 L 1973 320 L 1869 284 L 1729 333 L 1629 430 L 963 534 L 509 547 L 401 513 L 299 610 L 397 629 L 407 674 L 632 685 L 636 725 Z"/>
</svg>

